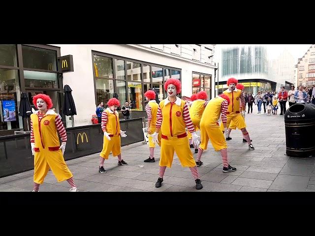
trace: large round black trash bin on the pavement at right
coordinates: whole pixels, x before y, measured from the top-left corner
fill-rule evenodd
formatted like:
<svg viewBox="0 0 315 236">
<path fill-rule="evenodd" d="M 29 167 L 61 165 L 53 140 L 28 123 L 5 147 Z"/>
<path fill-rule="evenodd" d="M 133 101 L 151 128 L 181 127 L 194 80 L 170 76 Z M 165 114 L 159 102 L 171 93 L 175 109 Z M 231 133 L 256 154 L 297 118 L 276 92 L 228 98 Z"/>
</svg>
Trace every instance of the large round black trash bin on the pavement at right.
<svg viewBox="0 0 315 236">
<path fill-rule="evenodd" d="M 286 154 L 294 157 L 315 156 L 315 105 L 298 103 L 284 114 Z"/>
</svg>

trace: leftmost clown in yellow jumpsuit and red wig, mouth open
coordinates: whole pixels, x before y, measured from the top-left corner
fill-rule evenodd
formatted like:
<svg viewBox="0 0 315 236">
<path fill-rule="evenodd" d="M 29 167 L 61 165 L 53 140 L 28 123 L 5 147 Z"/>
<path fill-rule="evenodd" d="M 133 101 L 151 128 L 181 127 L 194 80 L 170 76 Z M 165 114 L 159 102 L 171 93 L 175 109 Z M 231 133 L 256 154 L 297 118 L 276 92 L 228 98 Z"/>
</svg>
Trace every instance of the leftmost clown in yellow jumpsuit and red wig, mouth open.
<svg viewBox="0 0 315 236">
<path fill-rule="evenodd" d="M 70 192 L 78 192 L 73 175 L 63 159 L 67 134 L 60 116 L 50 110 L 53 107 L 51 98 L 39 93 L 33 97 L 33 104 L 38 109 L 31 115 L 31 147 L 34 155 L 33 192 L 39 191 L 39 185 L 44 182 L 49 168 L 58 182 L 67 180 L 71 186 Z M 57 131 L 62 140 L 61 145 Z"/>
</svg>

